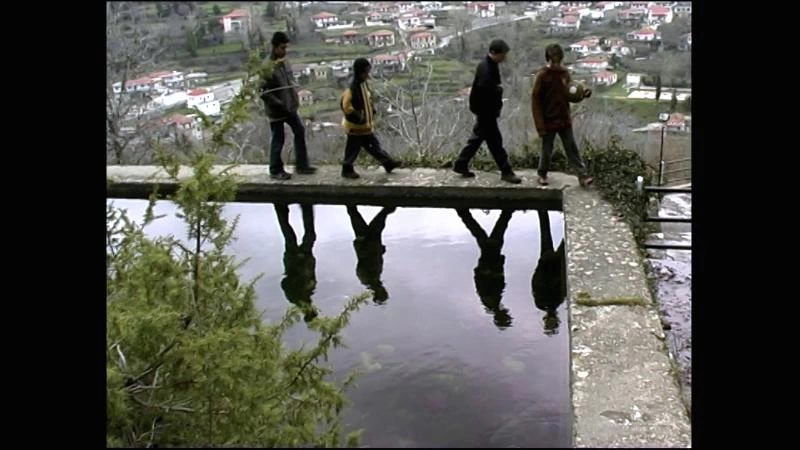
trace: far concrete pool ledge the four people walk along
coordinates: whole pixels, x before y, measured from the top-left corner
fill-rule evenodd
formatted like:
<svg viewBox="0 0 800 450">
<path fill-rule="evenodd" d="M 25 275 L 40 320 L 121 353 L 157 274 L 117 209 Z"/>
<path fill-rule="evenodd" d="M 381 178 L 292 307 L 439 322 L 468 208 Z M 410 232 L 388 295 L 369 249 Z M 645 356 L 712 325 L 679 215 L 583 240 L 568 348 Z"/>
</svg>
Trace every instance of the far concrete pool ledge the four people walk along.
<svg viewBox="0 0 800 450">
<path fill-rule="evenodd" d="M 219 171 L 222 167 L 216 167 Z M 289 169 L 290 171 L 292 168 Z M 562 209 L 562 190 L 577 180 L 553 173 L 547 188 L 536 182 L 535 171 L 518 171 L 523 178 L 518 185 L 500 180 L 499 173 L 478 172 L 473 179 L 439 169 L 395 169 L 387 174 L 382 168 L 357 168 L 358 180 L 342 178 L 340 167 L 323 166 L 314 175 L 293 175 L 289 181 L 273 180 L 268 166 L 243 165 L 233 172 L 239 178 L 236 200 L 242 202 L 359 203 L 396 206 L 464 206 L 474 208 L 502 206 L 525 209 Z M 181 168 L 179 178 L 191 175 Z M 109 198 L 146 199 L 158 185 L 161 195 L 175 192 L 177 186 L 157 166 L 108 166 Z"/>
</svg>

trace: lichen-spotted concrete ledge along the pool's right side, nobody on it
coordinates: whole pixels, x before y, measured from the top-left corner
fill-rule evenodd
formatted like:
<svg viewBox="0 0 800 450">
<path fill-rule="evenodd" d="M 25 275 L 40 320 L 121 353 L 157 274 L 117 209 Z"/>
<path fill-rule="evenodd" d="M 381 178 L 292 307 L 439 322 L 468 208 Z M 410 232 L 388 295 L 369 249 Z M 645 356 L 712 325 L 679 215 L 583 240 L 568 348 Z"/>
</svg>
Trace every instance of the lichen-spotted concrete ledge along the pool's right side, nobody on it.
<svg viewBox="0 0 800 450">
<path fill-rule="evenodd" d="M 564 192 L 576 447 L 688 447 L 691 426 L 630 227 Z"/>
</svg>

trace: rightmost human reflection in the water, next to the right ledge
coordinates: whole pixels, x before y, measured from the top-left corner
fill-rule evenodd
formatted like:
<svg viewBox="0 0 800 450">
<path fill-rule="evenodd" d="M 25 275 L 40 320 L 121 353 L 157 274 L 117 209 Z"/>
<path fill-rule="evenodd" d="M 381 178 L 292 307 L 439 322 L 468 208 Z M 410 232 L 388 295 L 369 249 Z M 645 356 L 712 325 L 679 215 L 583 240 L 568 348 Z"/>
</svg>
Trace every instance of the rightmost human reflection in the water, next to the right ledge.
<svg viewBox="0 0 800 450">
<path fill-rule="evenodd" d="M 566 278 L 564 277 L 564 240 L 558 249 L 553 251 L 553 237 L 550 234 L 550 217 L 547 211 L 539 214 L 540 256 L 536 270 L 531 279 L 531 291 L 536 307 L 544 311 L 544 334 L 558 334 L 561 321 L 558 318 L 558 307 L 566 295 Z"/>
</svg>

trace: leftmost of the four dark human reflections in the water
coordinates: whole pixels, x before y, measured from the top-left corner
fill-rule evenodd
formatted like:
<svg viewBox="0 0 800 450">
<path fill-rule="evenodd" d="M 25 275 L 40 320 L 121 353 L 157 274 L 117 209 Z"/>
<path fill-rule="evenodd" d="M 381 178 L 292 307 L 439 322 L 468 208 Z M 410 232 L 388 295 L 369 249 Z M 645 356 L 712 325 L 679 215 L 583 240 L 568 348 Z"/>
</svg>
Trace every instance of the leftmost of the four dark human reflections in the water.
<svg viewBox="0 0 800 450">
<path fill-rule="evenodd" d="M 317 287 L 316 266 L 314 258 L 314 209 L 312 205 L 301 204 L 303 211 L 303 240 L 297 245 L 297 236 L 289 223 L 289 205 L 275 204 L 275 214 L 281 227 L 286 247 L 283 252 L 284 277 L 281 288 L 286 299 L 304 312 L 304 320 L 310 322 L 317 317 L 317 311 L 311 303 L 311 296 Z"/>
</svg>

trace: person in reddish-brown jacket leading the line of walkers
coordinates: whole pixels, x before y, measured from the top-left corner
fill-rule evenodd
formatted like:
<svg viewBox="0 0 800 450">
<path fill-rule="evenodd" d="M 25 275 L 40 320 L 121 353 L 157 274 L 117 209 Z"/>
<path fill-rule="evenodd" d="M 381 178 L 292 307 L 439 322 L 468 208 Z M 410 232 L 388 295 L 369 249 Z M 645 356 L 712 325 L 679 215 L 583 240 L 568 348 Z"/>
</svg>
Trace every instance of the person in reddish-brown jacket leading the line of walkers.
<svg viewBox="0 0 800 450">
<path fill-rule="evenodd" d="M 581 186 L 586 187 L 592 184 L 592 178 L 589 176 L 586 164 L 581 159 L 578 145 L 575 144 L 575 135 L 572 133 L 572 118 L 567 97 L 571 78 L 569 71 L 561 65 L 561 61 L 564 60 L 564 50 L 558 44 L 550 44 L 545 49 L 544 56 L 547 65 L 536 73 L 531 94 L 533 123 L 539 137 L 542 138 L 542 155 L 539 158 L 538 170 L 539 184 L 548 184 L 547 172 L 550 170 L 553 143 L 558 134 L 569 163 L 578 168 L 578 180 Z M 591 95 L 591 89 L 586 89 L 580 100 L 589 98 Z"/>
</svg>

